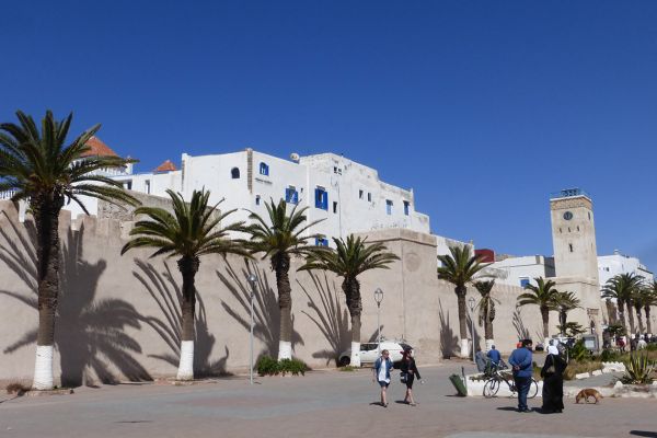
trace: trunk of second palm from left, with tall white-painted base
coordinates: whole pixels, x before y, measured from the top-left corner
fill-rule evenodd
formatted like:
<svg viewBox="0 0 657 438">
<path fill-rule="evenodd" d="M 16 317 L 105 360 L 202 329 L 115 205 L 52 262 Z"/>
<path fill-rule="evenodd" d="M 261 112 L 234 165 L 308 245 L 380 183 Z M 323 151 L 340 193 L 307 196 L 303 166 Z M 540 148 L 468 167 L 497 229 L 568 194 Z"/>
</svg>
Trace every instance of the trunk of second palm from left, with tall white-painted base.
<svg viewBox="0 0 657 438">
<path fill-rule="evenodd" d="M 196 331 L 194 320 L 196 312 L 196 287 L 194 280 L 200 262 L 198 257 L 183 256 L 177 262 L 183 276 L 183 302 L 181 326 L 181 358 L 178 362 L 177 380 L 194 380 L 194 341 Z"/>
</svg>

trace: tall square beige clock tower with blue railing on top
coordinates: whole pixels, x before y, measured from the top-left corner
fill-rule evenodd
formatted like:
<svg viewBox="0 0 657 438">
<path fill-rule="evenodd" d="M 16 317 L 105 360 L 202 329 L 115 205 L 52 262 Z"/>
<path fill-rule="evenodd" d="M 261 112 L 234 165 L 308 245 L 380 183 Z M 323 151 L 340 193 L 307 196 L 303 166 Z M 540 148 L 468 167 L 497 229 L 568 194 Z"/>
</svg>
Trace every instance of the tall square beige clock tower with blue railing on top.
<svg viewBox="0 0 657 438">
<path fill-rule="evenodd" d="M 550 197 L 550 215 L 556 289 L 581 301 L 583 309 L 568 313 L 568 320 L 599 336 L 602 301 L 591 198 L 579 188 L 563 189 Z"/>
</svg>

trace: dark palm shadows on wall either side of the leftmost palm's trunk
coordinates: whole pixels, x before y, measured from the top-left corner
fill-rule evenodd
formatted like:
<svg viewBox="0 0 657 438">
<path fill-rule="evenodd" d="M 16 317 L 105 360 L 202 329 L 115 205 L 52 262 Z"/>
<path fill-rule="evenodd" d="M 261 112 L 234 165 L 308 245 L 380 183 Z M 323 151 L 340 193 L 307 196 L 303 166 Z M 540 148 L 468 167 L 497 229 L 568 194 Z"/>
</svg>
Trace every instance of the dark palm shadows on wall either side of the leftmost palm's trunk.
<svg viewBox="0 0 657 438">
<path fill-rule="evenodd" d="M 26 306 L 37 309 L 36 297 L 36 253 L 34 250 L 35 228 L 25 221 L 27 237 L 13 222 L 11 228 L 22 247 L 13 243 L 5 230 L 0 233 L 4 243 L 0 244 L 0 260 L 10 266 L 32 296 L 0 290 Z M 105 298 L 95 299 L 97 285 L 106 262 L 90 263 L 83 260 L 82 241 L 84 228 L 70 230 L 62 245 L 59 270 L 60 295 L 58 298 L 55 347 L 59 351 L 61 384 L 79 387 L 94 384 L 95 378 L 107 384 L 118 383 L 115 370 L 130 381 L 151 380 L 148 371 L 132 357 L 141 353 L 140 345 L 125 333 L 126 328 L 139 330 L 140 315 L 127 301 Z M 4 354 L 36 343 L 38 328 L 4 348 Z"/>
</svg>

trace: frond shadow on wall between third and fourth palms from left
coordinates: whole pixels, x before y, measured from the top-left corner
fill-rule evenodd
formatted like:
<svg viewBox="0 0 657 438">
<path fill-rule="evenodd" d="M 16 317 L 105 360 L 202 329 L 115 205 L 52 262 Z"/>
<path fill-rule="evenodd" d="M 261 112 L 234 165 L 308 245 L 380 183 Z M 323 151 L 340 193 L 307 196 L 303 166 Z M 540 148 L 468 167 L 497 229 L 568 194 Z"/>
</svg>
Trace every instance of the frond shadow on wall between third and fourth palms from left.
<svg viewBox="0 0 657 438">
<path fill-rule="evenodd" d="M 349 335 L 349 313 L 347 309 L 343 309 L 335 284 L 328 283 L 326 273 L 323 273 L 323 278 L 320 278 L 318 274 L 312 272 L 308 272 L 308 275 L 312 279 L 318 292 L 318 302 L 313 301 L 306 287 L 297 280 L 297 284 L 303 290 L 306 297 L 308 297 L 308 307 L 314 312 L 314 315 L 304 310 L 301 313 L 307 315 L 318 326 L 330 345 L 330 348 L 313 353 L 312 357 L 325 359 L 326 365 L 331 364 L 332 360 L 337 365 L 339 354 L 349 347 L 351 341 Z"/>
</svg>

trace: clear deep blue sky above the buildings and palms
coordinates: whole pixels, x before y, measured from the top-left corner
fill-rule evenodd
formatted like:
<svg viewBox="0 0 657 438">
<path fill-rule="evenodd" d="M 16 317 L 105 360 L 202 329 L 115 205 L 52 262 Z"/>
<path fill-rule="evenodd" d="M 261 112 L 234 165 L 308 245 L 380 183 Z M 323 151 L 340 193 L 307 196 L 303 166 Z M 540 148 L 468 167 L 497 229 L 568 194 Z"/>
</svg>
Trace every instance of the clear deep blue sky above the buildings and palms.
<svg viewBox="0 0 657 438">
<path fill-rule="evenodd" d="M 435 233 L 552 254 L 549 194 L 657 270 L 657 2 L 13 1 L 0 119 L 73 111 L 150 170 L 333 151 Z"/>
</svg>

